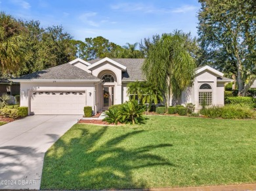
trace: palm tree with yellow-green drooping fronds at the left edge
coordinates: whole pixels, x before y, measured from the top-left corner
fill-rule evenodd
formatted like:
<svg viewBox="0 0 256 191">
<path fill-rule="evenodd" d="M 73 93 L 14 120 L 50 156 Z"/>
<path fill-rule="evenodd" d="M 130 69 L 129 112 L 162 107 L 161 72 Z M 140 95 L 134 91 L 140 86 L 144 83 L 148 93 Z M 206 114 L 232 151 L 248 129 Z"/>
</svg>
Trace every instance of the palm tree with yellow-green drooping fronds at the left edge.
<svg viewBox="0 0 256 191">
<path fill-rule="evenodd" d="M 24 28 L 11 15 L 0 12 L 0 64 L 2 73 L 12 73 L 25 58 Z"/>
</svg>

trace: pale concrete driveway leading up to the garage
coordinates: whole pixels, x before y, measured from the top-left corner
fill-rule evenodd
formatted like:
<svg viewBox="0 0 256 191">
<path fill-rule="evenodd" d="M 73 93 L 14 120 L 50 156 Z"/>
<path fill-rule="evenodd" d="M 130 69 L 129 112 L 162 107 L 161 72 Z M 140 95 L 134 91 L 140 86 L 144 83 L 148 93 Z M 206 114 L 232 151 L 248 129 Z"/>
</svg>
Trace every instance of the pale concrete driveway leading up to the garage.
<svg viewBox="0 0 256 191">
<path fill-rule="evenodd" d="M 35 115 L 0 126 L 0 189 L 39 190 L 45 152 L 79 115 Z"/>
</svg>

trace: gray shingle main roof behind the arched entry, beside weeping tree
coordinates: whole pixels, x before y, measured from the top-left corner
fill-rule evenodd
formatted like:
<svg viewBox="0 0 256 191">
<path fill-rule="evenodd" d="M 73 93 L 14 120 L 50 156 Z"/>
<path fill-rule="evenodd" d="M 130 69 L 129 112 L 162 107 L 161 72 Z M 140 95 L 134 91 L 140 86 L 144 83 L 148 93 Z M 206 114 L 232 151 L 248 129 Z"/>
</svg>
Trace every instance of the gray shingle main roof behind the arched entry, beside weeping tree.
<svg viewBox="0 0 256 191">
<path fill-rule="evenodd" d="M 122 81 L 145 80 L 141 71 L 144 58 L 110 58 L 110 59 L 126 67 L 126 71 L 122 73 Z M 90 60 L 88 62 L 93 64 L 99 60 L 101 59 L 97 58 L 95 60 Z"/>
</svg>

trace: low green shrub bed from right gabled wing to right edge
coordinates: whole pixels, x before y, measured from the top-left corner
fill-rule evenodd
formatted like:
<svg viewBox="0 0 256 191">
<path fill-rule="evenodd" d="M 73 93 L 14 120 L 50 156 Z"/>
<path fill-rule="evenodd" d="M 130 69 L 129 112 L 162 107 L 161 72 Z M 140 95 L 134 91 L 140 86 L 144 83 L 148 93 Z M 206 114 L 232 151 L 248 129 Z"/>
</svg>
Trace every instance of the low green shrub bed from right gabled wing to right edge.
<svg viewBox="0 0 256 191">
<path fill-rule="evenodd" d="M 251 108 L 241 105 L 225 105 L 224 107 L 211 107 L 202 109 L 200 114 L 209 118 L 247 119 L 256 118 L 256 113 Z"/>
</svg>

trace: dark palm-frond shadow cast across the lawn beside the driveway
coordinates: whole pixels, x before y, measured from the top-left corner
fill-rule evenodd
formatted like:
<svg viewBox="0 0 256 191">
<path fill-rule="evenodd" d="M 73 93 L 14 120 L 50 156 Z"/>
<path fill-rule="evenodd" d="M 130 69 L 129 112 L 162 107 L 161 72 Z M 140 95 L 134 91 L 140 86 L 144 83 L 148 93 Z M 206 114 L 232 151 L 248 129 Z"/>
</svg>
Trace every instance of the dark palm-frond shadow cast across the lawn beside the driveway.
<svg viewBox="0 0 256 191">
<path fill-rule="evenodd" d="M 166 158 L 150 154 L 150 150 L 171 147 L 171 144 L 150 144 L 138 148 L 119 146 L 122 141 L 143 130 L 123 133 L 102 144 L 102 136 L 108 127 L 102 127 L 94 133 L 83 128 L 73 130 L 79 132 L 77 138 L 71 139 L 68 144 L 59 139 L 56 147 L 46 154 L 41 189 L 146 188 L 147 182 L 143 177 L 134 179 L 134 169 L 173 165 Z M 58 156 L 59 150 L 63 150 L 62 156 Z"/>
</svg>

